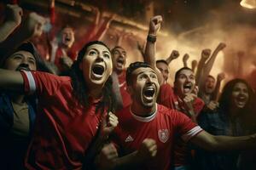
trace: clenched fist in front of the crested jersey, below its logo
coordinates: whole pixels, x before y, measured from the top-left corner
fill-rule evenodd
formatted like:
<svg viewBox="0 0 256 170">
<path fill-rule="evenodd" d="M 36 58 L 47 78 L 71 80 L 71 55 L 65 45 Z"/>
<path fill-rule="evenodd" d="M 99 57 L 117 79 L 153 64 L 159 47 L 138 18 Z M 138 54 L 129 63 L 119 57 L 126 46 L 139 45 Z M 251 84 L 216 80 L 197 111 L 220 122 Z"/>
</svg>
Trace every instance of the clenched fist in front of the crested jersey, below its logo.
<svg viewBox="0 0 256 170">
<path fill-rule="evenodd" d="M 139 159 L 143 161 L 148 160 L 157 153 L 157 145 L 154 139 L 144 139 L 143 143 L 140 145 L 140 148 L 137 152 L 137 156 Z"/>
</svg>

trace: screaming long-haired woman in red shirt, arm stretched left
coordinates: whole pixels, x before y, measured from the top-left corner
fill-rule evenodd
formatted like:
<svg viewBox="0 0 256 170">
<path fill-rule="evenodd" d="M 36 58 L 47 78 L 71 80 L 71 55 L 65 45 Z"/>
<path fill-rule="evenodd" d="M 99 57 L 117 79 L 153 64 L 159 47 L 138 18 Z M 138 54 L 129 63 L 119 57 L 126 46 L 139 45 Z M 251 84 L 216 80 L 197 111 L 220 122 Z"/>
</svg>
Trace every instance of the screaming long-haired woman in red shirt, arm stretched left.
<svg viewBox="0 0 256 170">
<path fill-rule="evenodd" d="M 26 154 L 27 169 L 90 166 L 97 145 L 118 122 L 112 113 L 106 117 L 114 110 L 111 72 L 110 50 L 97 41 L 80 50 L 70 77 L 0 69 L 1 89 L 38 96 L 38 114 Z"/>
</svg>

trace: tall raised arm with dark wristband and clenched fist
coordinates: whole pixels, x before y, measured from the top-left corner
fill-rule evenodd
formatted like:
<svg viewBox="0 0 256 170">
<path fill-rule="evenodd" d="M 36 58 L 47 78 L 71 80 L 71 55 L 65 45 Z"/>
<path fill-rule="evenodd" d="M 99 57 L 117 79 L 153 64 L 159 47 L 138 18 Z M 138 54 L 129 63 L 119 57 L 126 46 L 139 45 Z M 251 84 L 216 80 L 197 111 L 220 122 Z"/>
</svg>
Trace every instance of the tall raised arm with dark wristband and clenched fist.
<svg viewBox="0 0 256 170">
<path fill-rule="evenodd" d="M 161 22 L 163 21 L 162 16 L 157 15 L 150 19 L 148 38 L 145 48 L 144 61 L 151 65 L 154 71 L 156 71 L 160 85 L 164 82 L 164 77 L 162 76 L 160 70 L 156 67 L 155 64 L 155 41 L 157 31 L 160 30 Z"/>
</svg>

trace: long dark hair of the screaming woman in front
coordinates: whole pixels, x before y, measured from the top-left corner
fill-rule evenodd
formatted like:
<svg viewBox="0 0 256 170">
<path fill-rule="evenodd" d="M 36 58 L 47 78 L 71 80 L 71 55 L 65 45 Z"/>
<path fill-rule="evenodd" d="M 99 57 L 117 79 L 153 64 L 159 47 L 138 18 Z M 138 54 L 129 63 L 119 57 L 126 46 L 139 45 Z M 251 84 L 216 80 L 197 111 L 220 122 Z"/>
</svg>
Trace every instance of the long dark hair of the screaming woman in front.
<svg viewBox="0 0 256 170">
<path fill-rule="evenodd" d="M 72 79 L 72 86 L 73 86 L 73 94 L 79 100 L 79 103 L 81 105 L 84 105 L 85 107 L 89 107 L 90 105 L 89 93 L 88 93 L 89 88 L 87 87 L 86 82 L 84 81 L 83 72 L 79 69 L 79 64 L 80 62 L 82 62 L 84 58 L 84 54 L 86 53 L 87 49 L 93 44 L 100 44 L 108 48 L 108 46 L 103 42 L 99 42 L 99 41 L 88 42 L 87 44 L 84 45 L 84 48 L 82 48 L 79 51 L 78 59 L 74 61 L 70 71 L 70 77 Z M 96 112 L 99 109 L 101 109 L 102 112 L 105 109 L 107 109 L 108 111 L 115 111 L 115 106 L 116 106 L 116 100 L 112 93 L 112 79 L 111 77 L 108 77 L 107 82 L 105 82 L 105 85 L 102 88 L 102 100 L 99 103 L 99 105 L 97 105 Z"/>
</svg>

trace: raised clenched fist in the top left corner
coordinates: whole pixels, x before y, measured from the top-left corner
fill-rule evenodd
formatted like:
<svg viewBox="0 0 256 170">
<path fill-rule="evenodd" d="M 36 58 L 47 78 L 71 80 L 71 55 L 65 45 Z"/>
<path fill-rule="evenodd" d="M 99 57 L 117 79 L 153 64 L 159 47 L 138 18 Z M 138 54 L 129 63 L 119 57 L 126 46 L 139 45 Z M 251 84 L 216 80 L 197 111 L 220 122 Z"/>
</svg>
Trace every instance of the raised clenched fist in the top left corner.
<svg viewBox="0 0 256 170">
<path fill-rule="evenodd" d="M 22 14 L 22 8 L 20 8 L 17 4 L 8 4 L 6 6 L 6 20 L 13 22 L 16 26 L 20 25 Z"/>
</svg>

